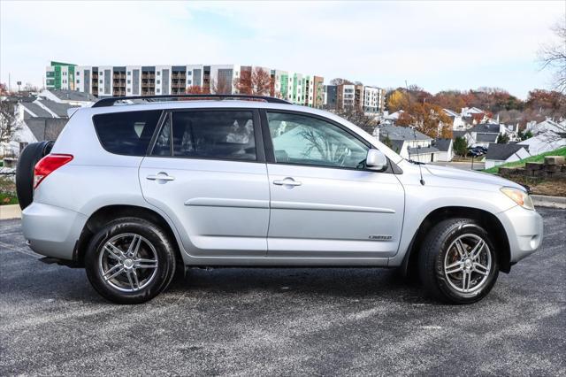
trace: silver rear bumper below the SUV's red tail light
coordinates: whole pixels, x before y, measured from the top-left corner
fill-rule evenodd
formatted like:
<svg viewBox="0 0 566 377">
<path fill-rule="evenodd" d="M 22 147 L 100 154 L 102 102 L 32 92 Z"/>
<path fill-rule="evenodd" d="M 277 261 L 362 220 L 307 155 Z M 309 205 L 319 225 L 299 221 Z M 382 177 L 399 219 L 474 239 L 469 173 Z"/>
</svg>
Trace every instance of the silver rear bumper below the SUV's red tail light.
<svg viewBox="0 0 566 377">
<path fill-rule="evenodd" d="M 73 259 L 75 243 L 86 222 L 87 217 L 78 212 L 35 202 L 21 213 L 29 247 L 52 258 Z"/>
</svg>

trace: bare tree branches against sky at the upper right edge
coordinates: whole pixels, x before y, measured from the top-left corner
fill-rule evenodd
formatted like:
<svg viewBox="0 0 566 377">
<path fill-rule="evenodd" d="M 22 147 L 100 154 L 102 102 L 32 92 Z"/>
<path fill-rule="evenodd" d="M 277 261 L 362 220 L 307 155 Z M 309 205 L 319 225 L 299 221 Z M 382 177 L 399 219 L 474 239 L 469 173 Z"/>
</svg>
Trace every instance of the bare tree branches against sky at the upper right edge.
<svg viewBox="0 0 566 377">
<path fill-rule="evenodd" d="M 543 45 L 539 50 L 541 69 L 555 72 L 555 89 L 566 93 L 566 17 L 553 27 L 558 42 Z"/>
</svg>

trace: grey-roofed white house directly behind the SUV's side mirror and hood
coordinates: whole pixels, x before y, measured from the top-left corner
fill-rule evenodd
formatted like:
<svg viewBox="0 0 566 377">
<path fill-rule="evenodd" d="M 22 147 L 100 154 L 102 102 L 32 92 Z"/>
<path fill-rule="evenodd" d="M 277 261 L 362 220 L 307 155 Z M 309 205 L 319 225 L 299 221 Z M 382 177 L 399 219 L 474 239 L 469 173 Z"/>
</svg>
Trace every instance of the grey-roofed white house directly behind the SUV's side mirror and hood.
<svg viewBox="0 0 566 377">
<path fill-rule="evenodd" d="M 380 125 L 373 133 L 380 142 L 391 145 L 391 149 L 402 158 L 420 162 L 437 160 L 439 150 L 432 145 L 432 137 L 411 127 Z"/>
</svg>

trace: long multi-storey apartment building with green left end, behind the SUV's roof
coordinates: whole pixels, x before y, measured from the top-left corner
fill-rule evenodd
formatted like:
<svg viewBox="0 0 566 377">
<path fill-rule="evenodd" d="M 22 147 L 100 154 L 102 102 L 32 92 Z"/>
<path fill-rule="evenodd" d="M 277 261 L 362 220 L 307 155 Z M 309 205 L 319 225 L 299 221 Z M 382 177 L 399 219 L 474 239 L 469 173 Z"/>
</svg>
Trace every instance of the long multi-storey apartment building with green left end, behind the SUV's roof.
<svg viewBox="0 0 566 377">
<path fill-rule="evenodd" d="M 46 87 L 78 90 L 98 97 L 183 94 L 187 88 L 236 94 L 241 73 L 255 65 L 73 65 L 51 62 Z M 270 95 L 294 104 L 322 107 L 324 78 L 261 67 L 271 74 Z"/>
</svg>

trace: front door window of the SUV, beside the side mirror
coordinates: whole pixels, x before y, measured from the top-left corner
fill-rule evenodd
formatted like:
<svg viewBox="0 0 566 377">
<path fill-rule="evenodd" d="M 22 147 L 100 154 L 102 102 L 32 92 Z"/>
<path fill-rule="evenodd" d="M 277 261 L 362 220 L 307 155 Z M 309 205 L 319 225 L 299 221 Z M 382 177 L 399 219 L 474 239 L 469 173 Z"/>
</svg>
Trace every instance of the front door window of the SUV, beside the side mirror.
<svg viewBox="0 0 566 377">
<path fill-rule="evenodd" d="M 268 112 L 275 162 L 361 169 L 369 148 L 342 128 L 305 115 Z"/>
</svg>

